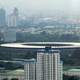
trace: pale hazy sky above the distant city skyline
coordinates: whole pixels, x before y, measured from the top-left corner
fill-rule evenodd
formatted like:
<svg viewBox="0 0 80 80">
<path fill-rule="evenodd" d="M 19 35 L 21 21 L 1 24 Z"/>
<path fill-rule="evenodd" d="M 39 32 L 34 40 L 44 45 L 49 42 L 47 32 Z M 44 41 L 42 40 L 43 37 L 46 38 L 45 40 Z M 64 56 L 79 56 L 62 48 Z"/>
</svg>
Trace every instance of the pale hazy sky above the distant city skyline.
<svg viewBox="0 0 80 80">
<path fill-rule="evenodd" d="M 18 7 L 20 11 L 48 12 L 55 11 L 63 13 L 80 13 L 80 0 L 0 0 L 0 7 L 11 11 Z"/>
</svg>

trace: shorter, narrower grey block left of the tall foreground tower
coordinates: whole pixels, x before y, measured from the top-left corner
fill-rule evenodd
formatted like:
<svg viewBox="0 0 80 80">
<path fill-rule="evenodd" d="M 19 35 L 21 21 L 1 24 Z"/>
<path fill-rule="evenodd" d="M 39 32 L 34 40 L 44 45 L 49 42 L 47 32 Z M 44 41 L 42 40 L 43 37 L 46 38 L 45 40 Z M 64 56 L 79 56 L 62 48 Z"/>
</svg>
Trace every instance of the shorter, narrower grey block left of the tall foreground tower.
<svg viewBox="0 0 80 80">
<path fill-rule="evenodd" d="M 24 62 L 24 80 L 36 80 L 36 60 L 28 59 Z"/>
</svg>

